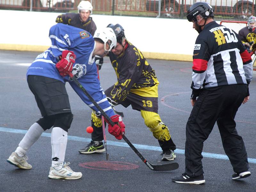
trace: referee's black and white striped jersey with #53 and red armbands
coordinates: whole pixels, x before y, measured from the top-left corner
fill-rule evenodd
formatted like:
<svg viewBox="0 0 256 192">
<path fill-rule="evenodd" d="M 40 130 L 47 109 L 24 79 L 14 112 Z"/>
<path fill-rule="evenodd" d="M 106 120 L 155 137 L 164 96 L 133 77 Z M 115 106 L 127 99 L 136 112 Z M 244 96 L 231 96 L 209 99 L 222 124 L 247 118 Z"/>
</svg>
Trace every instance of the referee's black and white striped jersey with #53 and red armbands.
<svg viewBox="0 0 256 192">
<path fill-rule="evenodd" d="M 252 59 L 232 29 L 212 21 L 199 33 L 193 54 L 193 90 L 252 80 Z"/>
</svg>

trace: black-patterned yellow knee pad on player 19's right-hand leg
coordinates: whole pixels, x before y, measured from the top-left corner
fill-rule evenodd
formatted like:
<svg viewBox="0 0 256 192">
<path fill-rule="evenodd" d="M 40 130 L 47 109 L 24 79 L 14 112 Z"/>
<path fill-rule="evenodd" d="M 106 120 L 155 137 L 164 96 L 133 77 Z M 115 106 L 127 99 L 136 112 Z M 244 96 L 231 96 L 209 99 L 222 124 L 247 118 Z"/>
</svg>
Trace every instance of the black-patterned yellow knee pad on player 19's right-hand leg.
<svg viewBox="0 0 256 192">
<path fill-rule="evenodd" d="M 158 140 L 168 141 L 171 139 L 169 129 L 163 122 L 160 122 L 154 128 L 149 128 L 149 130 L 153 132 L 153 136 Z"/>
</svg>

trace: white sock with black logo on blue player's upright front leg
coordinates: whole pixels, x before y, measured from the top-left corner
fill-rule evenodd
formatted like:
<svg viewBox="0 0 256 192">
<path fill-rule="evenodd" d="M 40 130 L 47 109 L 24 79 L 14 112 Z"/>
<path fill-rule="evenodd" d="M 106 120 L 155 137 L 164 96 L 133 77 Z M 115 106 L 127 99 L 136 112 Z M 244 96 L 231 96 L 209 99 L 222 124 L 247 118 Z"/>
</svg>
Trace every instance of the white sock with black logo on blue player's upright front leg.
<svg viewBox="0 0 256 192">
<path fill-rule="evenodd" d="M 60 127 L 52 128 L 52 167 L 61 169 L 65 159 L 66 147 L 68 142 L 68 132 Z"/>
</svg>

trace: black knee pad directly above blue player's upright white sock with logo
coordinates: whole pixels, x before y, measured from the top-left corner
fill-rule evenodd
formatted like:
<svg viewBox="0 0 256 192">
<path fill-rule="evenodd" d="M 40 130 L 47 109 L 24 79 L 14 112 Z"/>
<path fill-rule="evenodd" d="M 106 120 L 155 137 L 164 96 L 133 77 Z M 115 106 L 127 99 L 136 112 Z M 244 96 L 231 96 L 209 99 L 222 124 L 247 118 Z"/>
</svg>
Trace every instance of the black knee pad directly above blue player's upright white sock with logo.
<svg viewBox="0 0 256 192">
<path fill-rule="evenodd" d="M 68 132 L 68 129 L 70 128 L 72 121 L 72 113 L 60 113 L 55 115 L 55 122 L 53 124 L 53 127 L 60 127 L 64 131 Z"/>
</svg>

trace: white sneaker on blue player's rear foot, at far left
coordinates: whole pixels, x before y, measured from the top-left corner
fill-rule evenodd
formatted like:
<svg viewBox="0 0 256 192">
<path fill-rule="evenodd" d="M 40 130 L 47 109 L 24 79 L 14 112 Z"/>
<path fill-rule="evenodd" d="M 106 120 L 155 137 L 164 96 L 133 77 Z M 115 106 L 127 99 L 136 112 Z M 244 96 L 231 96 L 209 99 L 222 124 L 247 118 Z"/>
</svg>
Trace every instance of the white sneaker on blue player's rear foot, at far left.
<svg viewBox="0 0 256 192">
<path fill-rule="evenodd" d="M 26 155 L 23 157 L 20 157 L 17 155 L 17 153 L 12 152 L 11 156 L 9 156 L 9 158 L 7 159 L 7 162 L 21 169 L 31 169 L 32 166 L 28 164 L 27 160 L 28 160 L 28 157 Z"/>
</svg>

